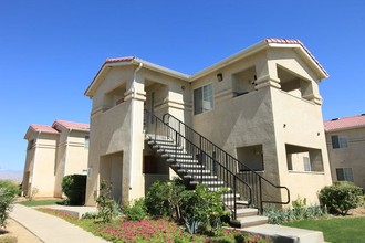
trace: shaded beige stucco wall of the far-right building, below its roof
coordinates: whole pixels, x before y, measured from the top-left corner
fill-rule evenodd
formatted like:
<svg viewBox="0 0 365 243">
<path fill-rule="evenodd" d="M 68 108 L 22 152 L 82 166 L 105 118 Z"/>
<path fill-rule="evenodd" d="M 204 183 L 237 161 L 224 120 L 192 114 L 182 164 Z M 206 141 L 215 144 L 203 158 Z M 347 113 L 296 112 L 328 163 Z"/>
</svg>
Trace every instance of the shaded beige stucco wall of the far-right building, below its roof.
<svg viewBox="0 0 365 243">
<path fill-rule="evenodd" d="M 347 148 L 333 149 L 331 136 L 347 139 Z M 354 183 L 365 188 L 365 128 L 350 128 L 326 133 L 332 180 L 337 181 L 336 168 L 352 168 Z"/>
</svg>

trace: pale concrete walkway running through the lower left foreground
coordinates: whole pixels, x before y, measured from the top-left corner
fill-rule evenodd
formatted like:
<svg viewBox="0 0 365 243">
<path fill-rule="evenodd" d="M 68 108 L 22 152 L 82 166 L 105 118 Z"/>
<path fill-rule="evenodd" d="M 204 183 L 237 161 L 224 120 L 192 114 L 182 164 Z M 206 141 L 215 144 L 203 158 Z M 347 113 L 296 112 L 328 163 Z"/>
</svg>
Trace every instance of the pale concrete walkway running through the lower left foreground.
<svg viewBox="0 0 365 243">
<path fill-rule="evenodd" d="M 21 204 L 13 205 L 10 218 L 22 224 L 45 243 L 107 242 L 60 218 Z"/>
</svg>

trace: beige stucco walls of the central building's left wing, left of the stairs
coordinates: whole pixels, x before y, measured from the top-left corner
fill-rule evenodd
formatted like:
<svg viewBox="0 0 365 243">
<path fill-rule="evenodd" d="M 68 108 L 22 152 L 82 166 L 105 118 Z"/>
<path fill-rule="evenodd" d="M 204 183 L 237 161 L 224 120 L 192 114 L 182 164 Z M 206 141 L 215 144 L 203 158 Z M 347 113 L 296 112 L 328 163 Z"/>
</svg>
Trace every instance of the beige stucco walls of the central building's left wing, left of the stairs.
<svg viewBox="0 0 365 243">
<path fill-rule="evenodd" d="M 109 176 L 107 172 L 111 165 L 105 165 L 104 168 L 101 165 L 101 161 L 111 160 L 115 154 L 123 155 L 123 161 L 119 161 L 123 166 L 119 167 L 114 161 L 114 168 L 121 169 L 122 184 L 115 188 L 121 188 L 122 201 L 145 196 L 145 177 L 142 172 L 145 146 L 143 124 L 144 109 L 152 109 L 152 93 L 155 93 L 156 116 L 161 118 L 165 113 L 171 113 L 182 120 L 190 122 L 190 116 L 185 116 L 186 110 L 191 107 L 189 83 L 146 68 L 138 71 L 133 82 L 134 68 L 112 67 L 101 77 L 103 82 L 93 96 L 88 160 L 91 176 L 87 180 L 86 204 L 95 204 L 101 179 L 119 181 L 116 175 Z M 122 95 L 124 102 L 106 107 L 105 95 L 116 87 L 125 87 Z M 175 173 L 170 170 L 170 177 L 173 176 Z"/>
</svg>

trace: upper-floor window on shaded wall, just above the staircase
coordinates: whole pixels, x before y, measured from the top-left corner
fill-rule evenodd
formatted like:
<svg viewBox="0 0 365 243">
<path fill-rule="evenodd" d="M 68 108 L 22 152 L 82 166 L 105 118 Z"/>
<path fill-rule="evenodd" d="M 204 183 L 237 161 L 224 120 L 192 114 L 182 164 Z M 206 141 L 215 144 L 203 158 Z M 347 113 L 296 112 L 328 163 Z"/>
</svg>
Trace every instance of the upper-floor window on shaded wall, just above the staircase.
<svg viewBox="0 0 365 243">
<path fill-rule="evenodd" d="M 212 84 L 194 91 L 194 115 L 212 109 Z"/>
</svg>

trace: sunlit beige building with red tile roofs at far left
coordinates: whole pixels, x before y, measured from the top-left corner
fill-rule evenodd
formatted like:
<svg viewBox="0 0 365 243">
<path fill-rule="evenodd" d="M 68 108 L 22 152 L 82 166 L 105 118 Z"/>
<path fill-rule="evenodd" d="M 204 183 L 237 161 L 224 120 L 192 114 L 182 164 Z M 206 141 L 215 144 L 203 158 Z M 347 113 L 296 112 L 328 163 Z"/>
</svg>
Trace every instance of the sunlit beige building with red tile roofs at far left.
<svg viewBox="0 0 365 243">
<path fill-rule="evenodd" d="M 32 124 L 28 140 L 22 191 L 29 197 L 62 197 L 62 178 L 86 173 L 88 124 L 55 120 L 52 126 Z"/>
</svg>

